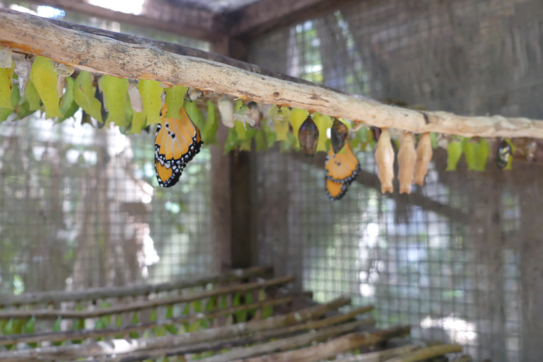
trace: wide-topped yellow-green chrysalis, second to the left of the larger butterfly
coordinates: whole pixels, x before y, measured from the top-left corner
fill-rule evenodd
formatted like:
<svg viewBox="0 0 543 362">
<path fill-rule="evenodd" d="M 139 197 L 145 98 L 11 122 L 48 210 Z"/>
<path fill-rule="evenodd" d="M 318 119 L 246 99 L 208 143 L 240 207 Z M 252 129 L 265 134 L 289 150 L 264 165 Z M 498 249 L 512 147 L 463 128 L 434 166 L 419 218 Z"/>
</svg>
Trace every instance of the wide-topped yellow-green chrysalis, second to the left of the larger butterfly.
<svg viewBox="0 0 543 362">
<path fill-rule="evenodd" d="M 128 98 L 128 79 L 106 75 L 100 78 L 99 83 L 108 112 L 106 122 L 115 122 L 116 126 L 123 127 L 124 105 Z"/>
</svg>

